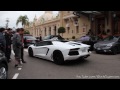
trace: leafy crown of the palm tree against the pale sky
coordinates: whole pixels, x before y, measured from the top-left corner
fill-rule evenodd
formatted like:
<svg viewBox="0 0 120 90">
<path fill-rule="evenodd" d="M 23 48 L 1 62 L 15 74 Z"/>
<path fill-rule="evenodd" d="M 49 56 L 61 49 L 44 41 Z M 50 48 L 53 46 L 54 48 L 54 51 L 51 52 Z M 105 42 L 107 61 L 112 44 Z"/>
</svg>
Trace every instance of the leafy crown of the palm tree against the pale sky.
<svg viewBox="0 0 120 90">
<path fill-rule="evenodd" d="M 19 16 L 19 18 L 17 19 L 16 25 L 18 25 L 20 22 L 22 23 L 22 27 L 24 27 L 25 25 L 29 26 L 29 19 L 27 15 Z"/>
</svg>

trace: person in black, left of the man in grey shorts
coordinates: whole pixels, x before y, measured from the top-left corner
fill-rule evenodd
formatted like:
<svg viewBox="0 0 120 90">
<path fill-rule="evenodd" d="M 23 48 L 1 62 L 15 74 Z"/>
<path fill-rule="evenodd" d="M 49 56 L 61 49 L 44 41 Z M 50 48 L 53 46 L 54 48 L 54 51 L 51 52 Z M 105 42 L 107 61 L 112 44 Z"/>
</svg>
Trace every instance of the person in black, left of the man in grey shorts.
<svg viewBox="0 0 120 90">
<path fill-rule="evenodd" d="M 5 51 L 5 56 L 8 60 L 8 62 L 11 61 L 11 44 L 12 44 L 12 40 L 11 40 L 11 31 L 12 29 L 8 28 L 7 30 L 5 30 L 5 40 L 6 40 L 6 51 Z"/>
</svg>

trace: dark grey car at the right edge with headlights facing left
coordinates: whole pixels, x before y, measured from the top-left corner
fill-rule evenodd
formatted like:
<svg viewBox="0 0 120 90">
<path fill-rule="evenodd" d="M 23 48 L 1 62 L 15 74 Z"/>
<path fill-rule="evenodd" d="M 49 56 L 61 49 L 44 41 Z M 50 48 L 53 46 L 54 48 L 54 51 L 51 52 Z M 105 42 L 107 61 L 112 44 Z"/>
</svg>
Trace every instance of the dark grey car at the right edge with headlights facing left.
<svg viewBox="0 0 120 90">
<path fill-rule="evenodd" d="M 94 45 L 96 53 L 110 52 L 114 55 L 120 52 L 120 36 L 109 36 Z"/>
</svg>

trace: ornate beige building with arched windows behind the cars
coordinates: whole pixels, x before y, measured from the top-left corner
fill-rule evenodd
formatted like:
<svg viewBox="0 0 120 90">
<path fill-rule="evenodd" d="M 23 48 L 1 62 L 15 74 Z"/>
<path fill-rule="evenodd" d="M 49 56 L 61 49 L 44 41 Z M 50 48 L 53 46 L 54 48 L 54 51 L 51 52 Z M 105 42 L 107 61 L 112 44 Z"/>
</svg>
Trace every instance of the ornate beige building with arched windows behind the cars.
<svg viewBox="0 0 120 90">
<path fill-rule="evenodd" d="M 59 11 L 57 16 L 52 11 L 45 11 L 39 18 L 35 16 L 33 22 L 30 22 L 29 26 L 25 26 L 25 29 L 29 30 L 30 34 L 35 37 L 40 34 L 44 37 L 46 35 L 58 35 L 59 27 L 66 29 L 63 38 L 71 39 L 73 36 L 79 38 L 89 31 L 90 21 L 82 15 L 77 18 L 73 11 Z"/>
</svg>

